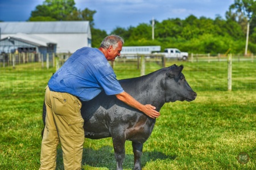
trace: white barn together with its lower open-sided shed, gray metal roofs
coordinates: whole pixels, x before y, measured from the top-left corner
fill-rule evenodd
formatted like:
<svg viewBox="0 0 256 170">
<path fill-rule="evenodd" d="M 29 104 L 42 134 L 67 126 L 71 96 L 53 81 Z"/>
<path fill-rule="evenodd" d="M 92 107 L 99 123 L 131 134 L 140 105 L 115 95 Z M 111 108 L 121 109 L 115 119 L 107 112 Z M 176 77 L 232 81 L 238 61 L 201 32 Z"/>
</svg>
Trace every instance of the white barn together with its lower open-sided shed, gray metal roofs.
<svg viewBox="0 0 256 170">
<path fill-rule="evenodd" d="M 0 53 L 74 53 L 91 42 L 88 21 L 0 22 Z"/>
</svg>

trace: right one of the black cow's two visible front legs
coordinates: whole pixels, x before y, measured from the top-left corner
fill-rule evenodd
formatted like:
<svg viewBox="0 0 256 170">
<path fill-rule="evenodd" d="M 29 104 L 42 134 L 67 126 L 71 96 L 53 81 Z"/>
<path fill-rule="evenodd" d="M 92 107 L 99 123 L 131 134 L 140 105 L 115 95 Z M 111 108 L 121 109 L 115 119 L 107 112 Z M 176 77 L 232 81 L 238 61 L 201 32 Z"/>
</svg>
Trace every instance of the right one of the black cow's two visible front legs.
<svg viewBox="0 0 256 170">
<path fill-rule="evenodd" d="M 141 170 L 141 155 L 143 144 L 138 142 L 132 142 L 133 154 L 134 154 L 134 170 Z"/>
</svg>

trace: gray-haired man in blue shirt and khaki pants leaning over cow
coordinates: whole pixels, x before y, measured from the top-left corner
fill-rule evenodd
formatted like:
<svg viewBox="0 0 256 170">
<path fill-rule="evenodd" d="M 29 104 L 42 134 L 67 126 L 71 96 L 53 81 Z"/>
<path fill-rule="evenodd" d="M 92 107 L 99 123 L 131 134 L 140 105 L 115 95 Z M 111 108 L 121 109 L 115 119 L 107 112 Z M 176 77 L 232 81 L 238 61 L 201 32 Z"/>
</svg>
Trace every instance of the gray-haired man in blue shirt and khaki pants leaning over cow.
<svg viewBox="0 0 256 170">
<path fill-rule="evenodd" d="M 108 61 L 120 56 L 122 37 L 106 37 L 100 48 L 77 50 L 51 77 L 46 88 L 46 128 L 42 139 L 40 169 L 55 169 L 57 145 L 61 143 L 65 169 L 81 169 L 84 143 L 84 120 L 81 101 L 100 94 L 115 95 L 117 99 L 155 118 L 155 107 L 143 105 L 123 91 Z"/>
</svg>

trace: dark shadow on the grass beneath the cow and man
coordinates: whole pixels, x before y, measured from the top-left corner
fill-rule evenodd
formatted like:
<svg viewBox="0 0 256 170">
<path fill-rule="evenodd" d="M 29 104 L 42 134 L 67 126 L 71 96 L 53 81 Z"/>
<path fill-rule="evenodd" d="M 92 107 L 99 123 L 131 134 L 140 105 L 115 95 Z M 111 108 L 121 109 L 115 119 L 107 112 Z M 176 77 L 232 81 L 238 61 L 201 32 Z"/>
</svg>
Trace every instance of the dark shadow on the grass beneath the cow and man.
<svg viewBox="0 0 256 170">
<path fill-rule="evenodd" d="M 143 152 L 141 157 L 142 168 L 147 162 L 160 160 L 175 160 L 177 155 L 165 155 L 158 151 Z M 93 150 L 92 148 L 84 148 L 82 153 L 82 166 L 88 166 L 94 168 L 116 169 L 116 162 L 113 147 L 104 146 L 100 150 Z M 126 154 L 123 162 L 124 169 L 134 168 L 134 155 Z M 56 169 L 64 169 L 63 167 L 63 155 L 61 148 L 57 149 L 57 167 Z M 87 168 L 85 168 L 87 169 Z"/>
</svg>

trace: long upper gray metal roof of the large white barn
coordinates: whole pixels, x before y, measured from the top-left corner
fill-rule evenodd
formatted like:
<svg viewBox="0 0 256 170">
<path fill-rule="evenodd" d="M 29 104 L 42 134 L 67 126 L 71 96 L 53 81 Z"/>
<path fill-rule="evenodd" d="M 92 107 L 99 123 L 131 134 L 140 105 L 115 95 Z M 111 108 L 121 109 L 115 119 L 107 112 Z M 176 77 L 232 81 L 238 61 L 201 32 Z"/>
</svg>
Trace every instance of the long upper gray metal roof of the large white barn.
<svg viewBox="0 0 256 170">
<path fill-rule="evenodd" d="M 88 21 L 62 22 L 0 22 L 2 34 L 7 33 L 90 33 Z"/>
</svg>

